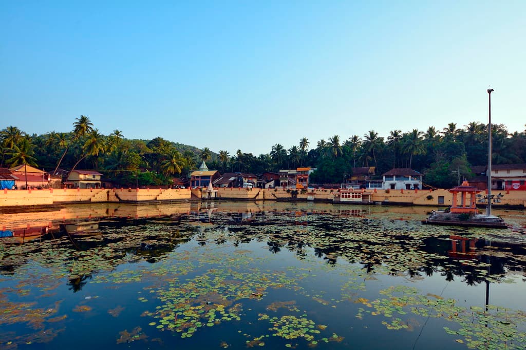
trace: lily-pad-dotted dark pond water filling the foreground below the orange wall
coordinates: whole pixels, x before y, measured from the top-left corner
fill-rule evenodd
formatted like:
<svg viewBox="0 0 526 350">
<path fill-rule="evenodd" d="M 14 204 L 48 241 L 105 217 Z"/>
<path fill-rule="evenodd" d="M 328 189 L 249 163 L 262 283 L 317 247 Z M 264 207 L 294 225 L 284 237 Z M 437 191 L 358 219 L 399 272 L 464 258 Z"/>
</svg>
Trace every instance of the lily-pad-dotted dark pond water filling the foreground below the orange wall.
<svg viewBox="0 0 526 350">
<path fill-rule="evenodd" d="M 0 214 L 0 348 L 526 348 L 526 217 L 430 208 L 69 205 Z M 45 233 L 45 232 L 44 232 Z"/>
</svg>

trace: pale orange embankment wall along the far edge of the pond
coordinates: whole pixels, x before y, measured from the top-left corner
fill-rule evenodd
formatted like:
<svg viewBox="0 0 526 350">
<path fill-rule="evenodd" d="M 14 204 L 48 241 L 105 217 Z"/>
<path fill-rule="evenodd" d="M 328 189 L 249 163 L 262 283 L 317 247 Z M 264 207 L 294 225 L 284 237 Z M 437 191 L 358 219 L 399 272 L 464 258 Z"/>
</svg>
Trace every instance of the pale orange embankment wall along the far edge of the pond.
<svg viewBox="0 0 526 350">
<path fill-rule="evenodd" d="M 216 188 L 217 197 L 221 199 L 239 200 L 288 200 L 290 191 L 282 188 Z M 314 189 L 302 193 L 299 190 L 298 200 L 312 199 L 314 201 L 332 201 L 333 194 L 338 190 Z M 446 189 L 438 190 L 384 190 L 371 193 L 371 201 L 382 204 L 407 204 L 427 206 L 450 206 L 452 195 Z M 501 203 L 495 205 L 511 205 L 526 207 L 526 191 L 497 191 L 501 193 Z M 484 192 L 481 193 L 485 195 Z M 149 189 L 149 188 L 114 188 L 114 189 L 37 189 L 37 190 L 2 190 L 0 191 L 0 207 L 52 205 L 60 203 L 105 203 L 105 202 L 140 202 L 169 201 L 201 198 L 199 189 Z M 439 197 L 443 203 L 439 204 Z M 442 199 L 442 198 L 440 198 Z M 458 198 L 460 203 L 460 196 Z"/>
</svg>

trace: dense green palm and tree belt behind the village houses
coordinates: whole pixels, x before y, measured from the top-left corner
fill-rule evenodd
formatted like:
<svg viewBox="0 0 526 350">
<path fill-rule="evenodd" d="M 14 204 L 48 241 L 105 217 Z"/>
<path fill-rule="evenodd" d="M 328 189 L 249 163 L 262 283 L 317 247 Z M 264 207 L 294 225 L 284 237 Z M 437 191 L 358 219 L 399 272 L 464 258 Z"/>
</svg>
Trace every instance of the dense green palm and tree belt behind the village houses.
<svg viewBox="0 0 526 350">
<path fill-rule="evenodd" d="M 68 133 L 28 135 L 16 126 L 0 131 L 0 167 L 35 165 L 55 174 L 60 169 L 97 169 L 121 185 L 167 185 L 173 176 L 186 176 L 201 161 L 220 172 L 261 174 L 299 166 L 316 167 L 315 183 L 341 183 L 358 166 L 376 166 L 377 174 L 393 167 L 407 167 L 424 174 L 426 184 L 447 188 L 456 185 L 458 175 L 471 178 L 471 166 L 485 165 L 488 158 L 488 127 L 471 122 L 458 128 L 449 123 L 423 132 L 393 130 L 383 137 L 371 130 L 363 136 L 341 140 L 333 135 L 311 144 L 307 138 L 286 149 L 275 144 L 267 154 L 254 156 L 237 150 L 234 154 L 208 147 L 153 140 L 128 140 L 121 131 L 109 135 L 94 128 L 81 115 Z M 526 163 L 526 131 L 509 133 L 502 124 L 492 125 L 494 164 Z"/>
</svg>

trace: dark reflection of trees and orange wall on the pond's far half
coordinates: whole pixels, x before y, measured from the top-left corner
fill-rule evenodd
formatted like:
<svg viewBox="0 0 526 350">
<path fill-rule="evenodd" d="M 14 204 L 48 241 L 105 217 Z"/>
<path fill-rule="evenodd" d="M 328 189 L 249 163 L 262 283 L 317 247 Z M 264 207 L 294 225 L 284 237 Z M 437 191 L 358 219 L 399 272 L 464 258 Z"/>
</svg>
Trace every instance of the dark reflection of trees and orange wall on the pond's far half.
<svg viewBox="0 0 526 350">
<path fill-rule="evenodd" d="M 25 225 L 26 230 L 22 241 L 19 235 L 2 240 L 6 246 L 13 246 L 34 237 L 38 242 L 57 240 L 53 244 L 64 249 L 110 250 L 103 259 L 117 266 L 128 261 L 157 262 L 192 237 L 199 246 L 206 246 L 207 232 L 221 231 L 223 234 L 213 240 L 215 245 L 230 241 L 237 247 L 254 239 L 262 240 L 271 253 L 278 254 L 286 247 L 298 259 L 304 259 L 310 248 L 314 256 L 329 265 L 358 262 L 367 273 L 409 278 L 440 273 L 446 281 L 458 277 L 468 285 L 501 280 L 509 271 L 524 274 L 524 238 L 511 230 L 508 236 L 494 237 L 492 230 L 423 227 L 420 213 L 425 210 L 220 201 L 78 205 L 24 213 L 25 221 L 21 221 L 20 213 L 12 214 L 13 217 L 2 215 L 6 224 L 12 226 L 6 225 L 7 229 L 20 232 L 19 226 Z M 524 225 L 516 219 L 520 217 L 517 212 L 511 214 L 515 228 Z M 42 222 L 48 224 L 37 226 Z M 64 237 L 67 240 L 60 240 Z M 33 244 L 27 250 L 26 253 L 37 252 L 41 247 Z M 19 251 L 2 253 L 2 271 L 12 273 L 21 266 L 21 259 L 13 258 Z M 133 259 L 123 260 L 124 256 Z M 82 286 L 82 281 L 80 277 L 75 285 Z"/>
</svg>

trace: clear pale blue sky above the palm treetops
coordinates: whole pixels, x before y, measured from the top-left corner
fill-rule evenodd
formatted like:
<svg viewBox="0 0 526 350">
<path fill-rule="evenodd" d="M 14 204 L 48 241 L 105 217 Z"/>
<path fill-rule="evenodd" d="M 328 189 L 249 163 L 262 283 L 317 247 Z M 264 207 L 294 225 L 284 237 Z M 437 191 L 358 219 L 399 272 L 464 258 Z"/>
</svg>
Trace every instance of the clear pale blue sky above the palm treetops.
<svg viewBox="0 0 526 350">
<path fill-rule="evenodd" d="M 526 123 L 526 1 L 2 1 L 0 129 L 268 153 Z"/>
</svg>

